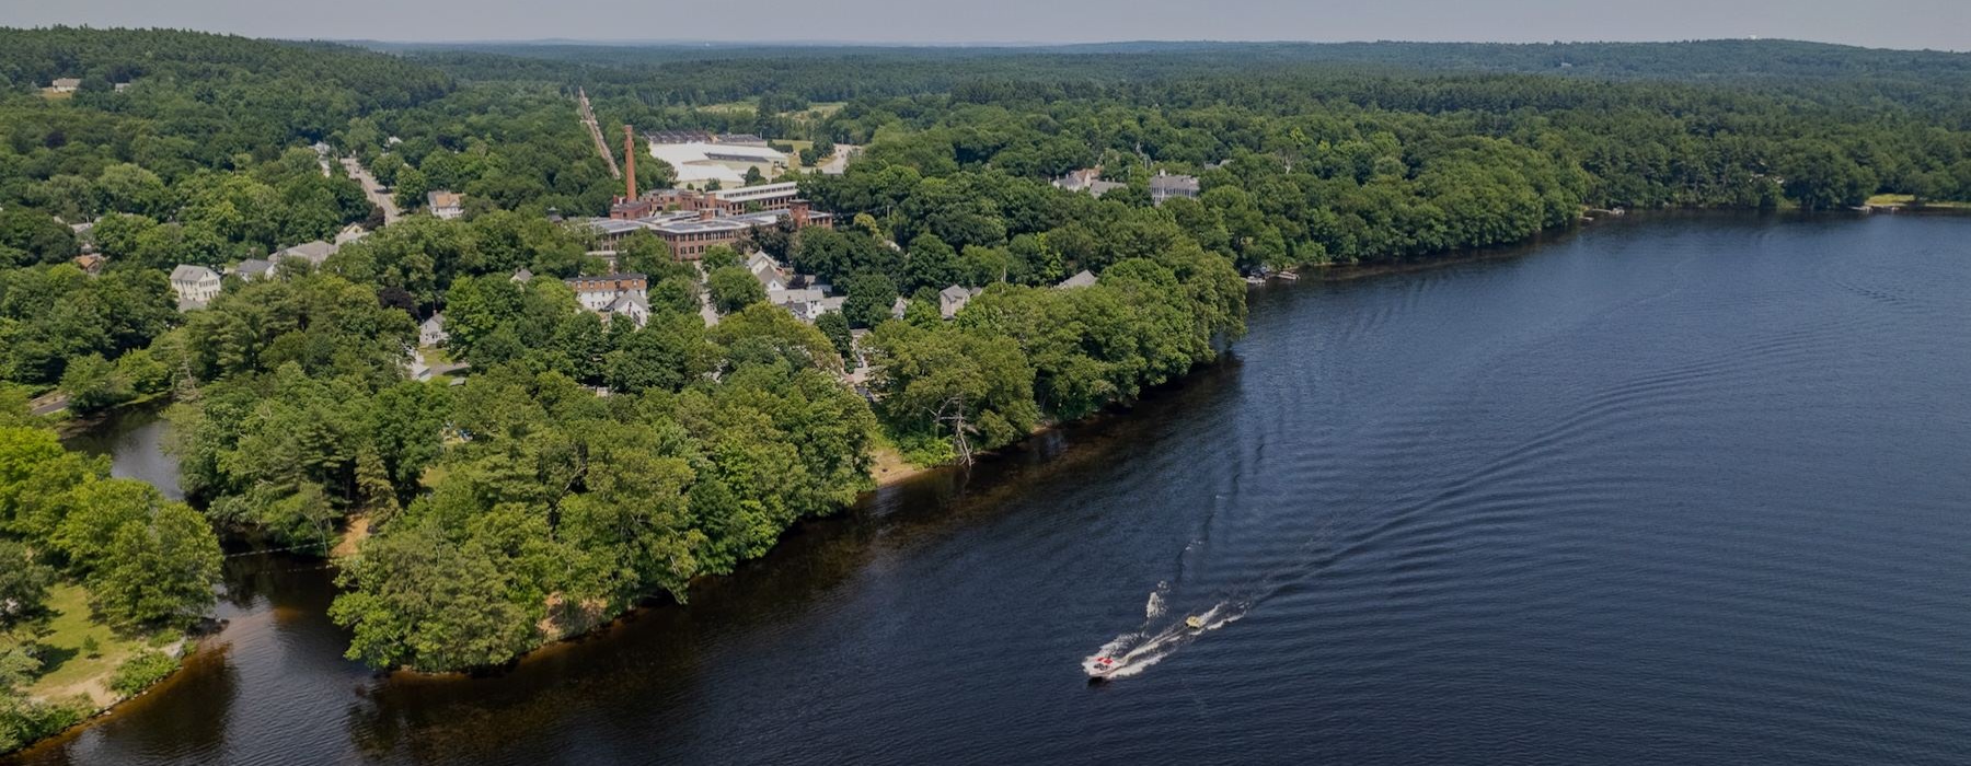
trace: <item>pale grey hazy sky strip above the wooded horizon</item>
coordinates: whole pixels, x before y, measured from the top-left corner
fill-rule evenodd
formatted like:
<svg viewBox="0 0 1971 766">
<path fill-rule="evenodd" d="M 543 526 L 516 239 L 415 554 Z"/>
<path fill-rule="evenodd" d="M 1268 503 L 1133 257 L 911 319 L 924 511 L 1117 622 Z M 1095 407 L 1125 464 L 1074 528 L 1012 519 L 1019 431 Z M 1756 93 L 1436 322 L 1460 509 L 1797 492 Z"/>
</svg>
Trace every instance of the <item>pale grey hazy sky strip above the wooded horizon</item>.
<svg viewBox="0 0 1971 766">
<path fill-rule="evenodd" d="M 333 39 L 1697 39 L 1971 49 L 1971 0 L 0 0 L 0 26 Z"/>
</svg>

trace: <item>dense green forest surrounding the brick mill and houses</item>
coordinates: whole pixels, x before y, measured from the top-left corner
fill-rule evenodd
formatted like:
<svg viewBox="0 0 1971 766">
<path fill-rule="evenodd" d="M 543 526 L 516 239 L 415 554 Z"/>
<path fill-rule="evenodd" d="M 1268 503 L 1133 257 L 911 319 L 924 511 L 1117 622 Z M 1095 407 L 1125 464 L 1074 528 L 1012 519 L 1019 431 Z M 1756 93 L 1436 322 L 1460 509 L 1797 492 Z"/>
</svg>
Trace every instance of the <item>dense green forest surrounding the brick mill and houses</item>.
<svg viewBox="0 0 1971 766">
<path fill-rule="evenodd" d="M 0 685 L 45 670 L 51 583 L 128 630 L 195 616 L 215 530 L 321 555 L 349 536 L 353 658 L 501 666 L 684 601 L 867 490 L 877 451 L 964 463 L 1212 362 L 1244 333 L 1242 272 L 1518 242 L 1589 209 L 1971 199 L 1967 75 L 1955 53 L 1790 41 L 378 53 L 0 30 L 0 557 L 28 561 L 0 579 Z M 43 93 L 61 77 L 79 89 Z M 650 321 L 581 311 L 562 278 L 605 268 L 579 219 L 619 181 L 576 87 L 611 136 L 861 146 L 842 175 L 794 175 L 838 224 L 755 230 L 704 268 L 631 236 Z M 343 158 L 412 215 L 384 224 Z M 1120 187 L 1049 183 L 1080 167 Z M 1157 173 L 1200 193 L 1159 205 Z M 465 193 L 461 221 L 420 215 L 436 189 Z M 351 224 L 367 236 L 317 268 L 227 276 L 177 311 L 173 266 Z M 767 305 L 755 250 L 844 309 Z M 970 301 L 946 317 L 954 287 Z M 414 380 L 438 313 L 469 372 Z M 49 392 L 77 415 L 168 398 L 191 504 L 63 453 L 20 414 Z M 144 577 L 168 593 L 124 585 Z M 34 705 L 0 707 L 0 731 L 65 721 Z"/>
</svg>

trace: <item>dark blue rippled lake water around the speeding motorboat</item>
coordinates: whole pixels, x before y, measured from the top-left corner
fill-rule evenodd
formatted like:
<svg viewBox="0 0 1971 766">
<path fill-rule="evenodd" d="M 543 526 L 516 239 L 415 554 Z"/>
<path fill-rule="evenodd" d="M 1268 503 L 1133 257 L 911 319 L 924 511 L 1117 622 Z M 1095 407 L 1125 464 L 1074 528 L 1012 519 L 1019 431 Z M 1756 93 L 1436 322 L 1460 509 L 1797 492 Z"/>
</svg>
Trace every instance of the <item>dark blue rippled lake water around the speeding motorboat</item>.
<svg viewBox="0 0 1971 766">
<path fill-rule="evenodd" d="M 501 677 L 341 660 L 327 577 L 237 563 L 221 650 L 28 762 L 1959 764 L 1971 221 L 1267 287 L 1133 414 Z"/>
</svg>

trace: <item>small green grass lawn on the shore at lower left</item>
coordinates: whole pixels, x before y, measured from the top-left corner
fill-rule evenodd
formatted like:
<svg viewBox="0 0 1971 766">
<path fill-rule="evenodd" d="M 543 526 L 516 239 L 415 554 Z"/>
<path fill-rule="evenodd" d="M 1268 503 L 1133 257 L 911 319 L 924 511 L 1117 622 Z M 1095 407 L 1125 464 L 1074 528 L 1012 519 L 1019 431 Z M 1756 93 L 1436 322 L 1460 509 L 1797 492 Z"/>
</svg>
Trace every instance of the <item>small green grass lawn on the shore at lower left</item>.
<svg viewBox="0 0 1971 766">
<path fill-rule="evenodd" d="M 173 638 L 170 634 L 116 634 L 110 626 L 89 616 L 89 591 L 75 583 L 55 585 L 47 593 L 47 608 L 53 612 L 47 622 L 51 634 L 41 644 L 49 648 L 49 670 L 28 687 L 28 693 L 43 699 L 69 699 L 85 693 L 97 705 L 108 705 L 116 699 L 108 689 L 116 666 L 146 646 L 164 646 Z M 89 638 L 97 640 L 95 658 L 83 652 Z"/>
</svg>

